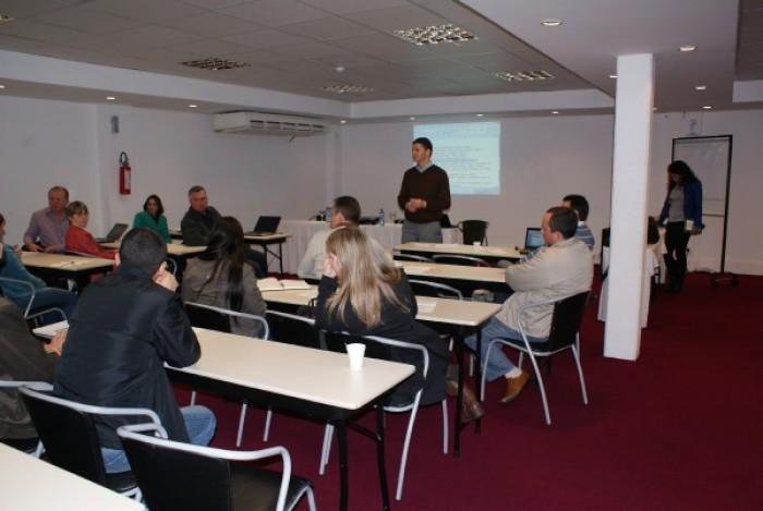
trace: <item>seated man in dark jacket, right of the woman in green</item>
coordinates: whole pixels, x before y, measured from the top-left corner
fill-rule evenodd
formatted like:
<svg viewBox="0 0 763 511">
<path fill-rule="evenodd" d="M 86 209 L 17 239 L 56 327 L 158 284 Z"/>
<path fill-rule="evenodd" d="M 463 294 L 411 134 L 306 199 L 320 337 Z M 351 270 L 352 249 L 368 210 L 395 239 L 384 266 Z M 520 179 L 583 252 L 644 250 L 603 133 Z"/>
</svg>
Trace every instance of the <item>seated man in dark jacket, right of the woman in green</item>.
<svg viewBox="0 0 763 511">
<path fill-rule="evenodd" d="M 206 246 L 211 238 L 213 226 L 221 218 L 220 212 L 209 206 L 209 198 L 204 186 L 195 185 L 189 190 L 189 210 L 180 221 L 180 231 L 183 234 L 183 244 L 189 246 Z M 244 257 L 254 268 L 258 279 L 267 275 L 267 259 L 265 254 L 257 252 L 249 245 L 244 248 Z"/>
</svg>

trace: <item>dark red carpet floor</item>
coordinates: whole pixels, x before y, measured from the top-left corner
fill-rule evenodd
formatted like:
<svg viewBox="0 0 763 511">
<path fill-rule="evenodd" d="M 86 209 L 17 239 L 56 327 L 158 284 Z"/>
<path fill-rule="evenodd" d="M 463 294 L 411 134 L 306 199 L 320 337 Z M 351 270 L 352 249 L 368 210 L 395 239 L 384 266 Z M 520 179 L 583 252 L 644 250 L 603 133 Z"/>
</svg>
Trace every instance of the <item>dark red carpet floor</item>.
<svg viewBox="0 0 763 511">
<path fill-rule="evenodd" d="M 439 407 L 422 410 L 403 498 L 392 509 L 763 509 L 763 324 L 755 320 L 763 278 L 712 289 L 707 276 L 691 275 L 682 294 L 655 294 L 637 363 L 601 355 L 604 328 L 590 304 L 582 332 L 590 404 L 581 402 L 571 357 L 555 358 L 546 378 L 550 427 L 536 388 L 500 405 L 502 387 L 494 384 L 482 435 L 464 430 L 455 459 L 440 450 Z M 186 391 L 178 396 L 187 402 Z M 218 416 L 214 445 L 232 448 L 240 404 L 208 394 L 199 403 Z M 244 448 L 266 447 L 264 417 L 250 411 Z M 405 418 L 387 418 L 390 496 Z M 267 446 L 286 446 L 294 472 L 313 480 L 318 509 L 337 509 L 336 445 L 319 476 L 322 438 L 322 424 L 276 415 Z M 373 445 L 350 431 L 352 510 L 380 508 L 375 461 Z"/>
</svg>

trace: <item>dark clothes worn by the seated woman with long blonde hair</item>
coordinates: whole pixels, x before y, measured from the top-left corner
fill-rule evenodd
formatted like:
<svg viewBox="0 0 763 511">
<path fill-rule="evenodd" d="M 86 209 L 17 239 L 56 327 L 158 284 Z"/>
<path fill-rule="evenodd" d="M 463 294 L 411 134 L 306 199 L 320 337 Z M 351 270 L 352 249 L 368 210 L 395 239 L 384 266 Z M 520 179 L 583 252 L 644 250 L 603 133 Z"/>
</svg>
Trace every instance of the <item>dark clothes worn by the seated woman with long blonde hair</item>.
<svg viewBox="0 0 763 511">
<path fill-rule="evenodd" d="M 344 321 L 340 320 L 336 314 L 329 316 L 327 301 L 336 291 L 336 279 L 324 276 L 318 287 L 315 317 L 315 323 L 319 328 L 337 332 L 348 331 L 353 336 L 378 336 L 422 344 L 429 353 L 429 369 L 425 382 L 422 376 L 423 361 L 419 352 L 399 348 L 390 350 L 390 360 L 416 367 L 413 377 L 400 384 L 395 390 L 391 398 L 393 403 L 410 403 L 422 386 L 424 387 L 421 398 L 422 404 L 436 403 L 445 399 L 445 373 L 450 357 L 448 344 L 447 341 L 440 339 L 436 331 L 415 320 L 416 300 L 404 273 L 402 273 L 400 282 L 393 287 L 393 291 L 409 311 L 401 311 L 391 303 L 385 303 L 382 307 L 382 320 L 373 327 L 363 324 L 349 305 L 344 311 Z"/>
</svg>

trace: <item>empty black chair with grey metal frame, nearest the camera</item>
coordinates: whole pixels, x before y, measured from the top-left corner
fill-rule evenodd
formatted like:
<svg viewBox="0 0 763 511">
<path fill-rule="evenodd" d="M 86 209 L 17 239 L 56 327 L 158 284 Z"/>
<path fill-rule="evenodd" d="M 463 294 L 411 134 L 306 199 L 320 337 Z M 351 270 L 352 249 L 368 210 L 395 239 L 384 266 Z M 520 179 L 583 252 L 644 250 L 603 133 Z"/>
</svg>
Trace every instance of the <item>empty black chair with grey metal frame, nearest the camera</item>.
<svg viewBox="0 0 763 511">
<path fill-rule="evenodd" d="M 272 477 L 275 474 L 262 471 L 263 484 L 257 485 L 257 473 L 250 473 L 254 475 L 251 483 L 259 499 L 256 509 L 281 511 L 284 508 L 291 479 L 291 457 L 286 448 L 278 446 L 258 451 L 229 451 L 141 433 L 154 430 L 150 424 L 122 426 L 117 430 L 149 509 L 232 510 L 230 461 L 272 457 L 280 457 L 282 461 L 280 480 Z"/>
</svg>

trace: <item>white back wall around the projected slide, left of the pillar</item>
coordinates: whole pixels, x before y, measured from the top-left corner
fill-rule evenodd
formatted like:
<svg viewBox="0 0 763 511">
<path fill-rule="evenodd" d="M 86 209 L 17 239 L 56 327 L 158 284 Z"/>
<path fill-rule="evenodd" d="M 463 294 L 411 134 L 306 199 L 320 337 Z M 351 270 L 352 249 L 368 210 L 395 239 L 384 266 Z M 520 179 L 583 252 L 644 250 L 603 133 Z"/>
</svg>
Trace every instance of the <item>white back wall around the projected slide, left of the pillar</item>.
<svg viewBox="0 0 763 511">
<path fill-rule="evenodd" d="M 609 223 L 613 117 L 510 118 L 500 123 L 501 193 L 453 195 L 451 221 L 487 220 L 491 244 L 521 245 L 525 228 L 540 226 L 546 208 L 580 193 L 591 204 L 589 224 L 598 241 Z M 412 165 L 413 124 L 342 126 L 337 193 L 355 195 L 366 214 L 397 209 L 402 173 Z M 433 144 L 436 161 L 437 141 Z"/>
</svg>

